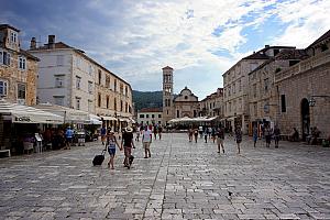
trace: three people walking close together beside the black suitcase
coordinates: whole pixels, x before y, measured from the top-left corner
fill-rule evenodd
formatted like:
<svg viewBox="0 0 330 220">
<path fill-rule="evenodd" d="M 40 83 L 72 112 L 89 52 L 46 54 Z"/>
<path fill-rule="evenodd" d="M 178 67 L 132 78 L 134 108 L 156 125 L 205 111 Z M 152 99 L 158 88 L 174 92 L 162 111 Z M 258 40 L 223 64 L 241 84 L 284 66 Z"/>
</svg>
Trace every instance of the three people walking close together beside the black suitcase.
<svg viewBox="0 0 330 220">
<path fill-rule="evenodd" d="M 144 158 L 151 157 L 151 143 L 152 143 L 152 129 L 150 127 L 145 125 L 139 127 L 139 136 L 142 134 L 142 145 L 144 148 Z M 160 133 L 158 133 L 160 134 Z M 139 141 L 139 136 L 136 133 L 136 139 Z M 161 139 L 161 135 L 160 135 Z M 134 135 L 133 135 L 133 129 L 130 127 L 127 127 L 123 130 L 121 143 L 117 141 L 117 138 L 114 135 L 114 132 L 111 131 L 111 129 L 107 130 L 106 135 L 101 136 L 102 144 L 106 145 L 106 150 L 108 151 L 110 157 L 108 162 L 108 167 L 111 169 L 114 169 L 114 156 L 116 156 L 116 148 L 118 147 L 120 151 L 124 151 L 124 167 L 131 168 L 131 165 L 133 163 L 134 156 L 132 155 L 132 148 L 135 148 L 134 145 Z"/>
</svg>

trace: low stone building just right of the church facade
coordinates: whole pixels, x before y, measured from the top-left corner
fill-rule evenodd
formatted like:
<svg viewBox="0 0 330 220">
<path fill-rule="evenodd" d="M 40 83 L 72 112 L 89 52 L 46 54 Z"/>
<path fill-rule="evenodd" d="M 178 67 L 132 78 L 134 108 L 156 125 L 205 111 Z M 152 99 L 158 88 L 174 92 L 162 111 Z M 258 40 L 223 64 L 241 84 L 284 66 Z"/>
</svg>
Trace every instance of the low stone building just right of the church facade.
<svg viewBox="0 0 330 220">
<path fill-rule="evenodd" d="M 200 116 L 223 118 L 223 88 L 218 88 L 216 92 L 207 96 L 200 101 Z"/>
</svg>

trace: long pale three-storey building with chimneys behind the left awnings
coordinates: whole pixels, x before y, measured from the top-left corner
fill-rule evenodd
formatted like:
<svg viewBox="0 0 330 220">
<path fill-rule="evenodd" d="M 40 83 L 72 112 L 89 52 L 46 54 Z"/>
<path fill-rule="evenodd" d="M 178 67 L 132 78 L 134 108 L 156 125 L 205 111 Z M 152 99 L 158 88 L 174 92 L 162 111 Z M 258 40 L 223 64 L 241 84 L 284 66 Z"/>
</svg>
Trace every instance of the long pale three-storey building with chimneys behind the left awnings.
<svg viewBox="0 0 330 220">
<path fill-rule="evenodd" d="M 48 36 L 48 43 L 30 53 L 41 59 L 38 102 L 51 102 L 102 117 L 107 127 L 119 129 L 132 118 L 131 86 L 85 54 Z"/>
</svg>

